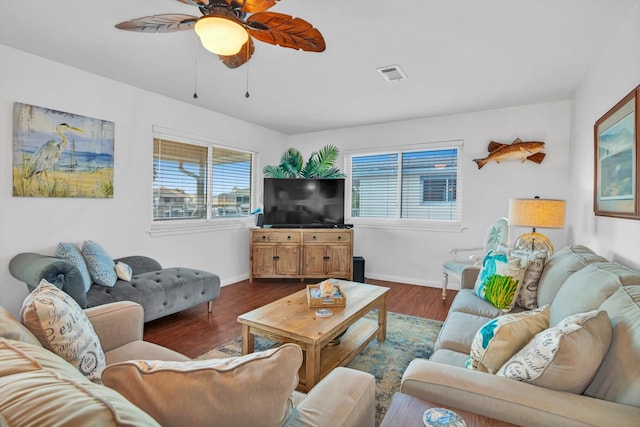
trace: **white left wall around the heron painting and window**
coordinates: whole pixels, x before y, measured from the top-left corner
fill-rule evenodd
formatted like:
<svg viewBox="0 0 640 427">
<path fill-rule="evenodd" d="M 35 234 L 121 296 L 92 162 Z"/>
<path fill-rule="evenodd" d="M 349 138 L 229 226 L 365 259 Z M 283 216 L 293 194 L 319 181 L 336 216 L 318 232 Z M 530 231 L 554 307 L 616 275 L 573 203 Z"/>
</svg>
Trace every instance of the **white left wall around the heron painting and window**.
<svg viewBox="0 0 640 427">
<path fill-rule="evenodd" d="M 284 135 L 2 45 L 0 63 L 0 305 L 16 314 L 27 294 L 9 274 L 10 259 L 20 252 L 53 254 L 59 241 L 94 240 L 113 257 L 148 255 L 166 267 L 215 272 L 223 284 L 248 277 L 251 221 L 226 231 L 149 235 L 152 127 L 255 152 L 266 148 L 269 156 L 284 150 Z M 12 197 L 14 102 L 115 122 L 114 197 Z"/>
</svg>

